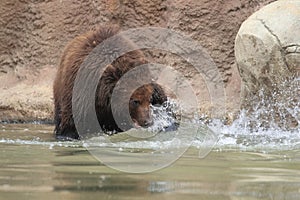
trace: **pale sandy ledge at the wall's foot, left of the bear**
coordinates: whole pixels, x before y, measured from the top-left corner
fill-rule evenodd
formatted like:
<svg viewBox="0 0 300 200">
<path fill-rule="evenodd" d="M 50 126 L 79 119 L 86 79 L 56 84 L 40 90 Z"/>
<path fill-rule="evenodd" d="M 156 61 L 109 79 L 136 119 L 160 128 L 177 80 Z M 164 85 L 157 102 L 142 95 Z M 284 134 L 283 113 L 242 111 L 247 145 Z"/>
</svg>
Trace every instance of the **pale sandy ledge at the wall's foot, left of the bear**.
<svg viewBox="0 0 300 200">
<path fill-rule="evenodd" d="M 56 69 L 15 72 L 0 77 L 0 121 L 52 121 Z M 22 77 L 20 77 L 22 74 Z"/>
</svg>

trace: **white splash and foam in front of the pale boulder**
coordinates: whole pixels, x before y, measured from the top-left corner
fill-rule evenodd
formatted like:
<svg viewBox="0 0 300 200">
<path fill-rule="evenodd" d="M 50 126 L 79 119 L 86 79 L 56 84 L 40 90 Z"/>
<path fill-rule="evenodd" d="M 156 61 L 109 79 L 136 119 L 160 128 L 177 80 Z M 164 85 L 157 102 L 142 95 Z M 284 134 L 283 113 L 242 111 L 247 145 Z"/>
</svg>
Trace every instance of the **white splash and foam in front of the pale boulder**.
<svg viewBox="0 0 300 200">
<path fill-rule="evenodd" d="M 213 120 L 221 132 L 219 145 L 299 148 L 300 78 L 285 79 L 272 91 L 261 89 L 231 125 Z"/>
</svg>

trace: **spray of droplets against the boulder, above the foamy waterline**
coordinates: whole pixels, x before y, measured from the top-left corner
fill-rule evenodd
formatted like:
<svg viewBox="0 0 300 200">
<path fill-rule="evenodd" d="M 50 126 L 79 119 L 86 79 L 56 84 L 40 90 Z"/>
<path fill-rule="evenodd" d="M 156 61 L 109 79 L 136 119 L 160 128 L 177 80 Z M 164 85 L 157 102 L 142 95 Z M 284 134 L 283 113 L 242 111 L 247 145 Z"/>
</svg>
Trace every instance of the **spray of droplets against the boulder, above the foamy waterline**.
<svg viewBox="0 0 300 200">
<path fill-rule="evenodd" d="M 248 101 L 251 104 L 242 111 L 242 117 L 252 131 L 283 130 L 299 133 L 299 77 L 284 79 L 280 84 L 274 84 L 272 90 L 262 88 Z"/>
</svg>

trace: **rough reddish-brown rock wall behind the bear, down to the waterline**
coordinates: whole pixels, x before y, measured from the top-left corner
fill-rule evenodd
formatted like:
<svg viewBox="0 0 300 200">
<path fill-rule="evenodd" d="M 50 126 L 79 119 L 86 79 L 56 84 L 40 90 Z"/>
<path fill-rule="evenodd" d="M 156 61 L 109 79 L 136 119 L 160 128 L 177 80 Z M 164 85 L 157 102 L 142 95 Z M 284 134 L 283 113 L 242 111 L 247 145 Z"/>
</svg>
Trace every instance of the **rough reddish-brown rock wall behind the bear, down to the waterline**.
<svg viewBox="0 0 300 200">
<path fill-rule="evenodd" d="M 51 118 L 51 85 L 64 46 L 76 35 L 102 23 L 116 23 L 123 29 L 172 28 L 199 41 L 222 74 L 228 97 L 225 103 L 233 111 L 238 108 L 240 92 L 234 63 L 235 35 L 243 20 L 272 1 L 1 0 L 0 121 Z M 205 83 L 201 77 L 195 77 L 184 61 L 164 52 L 153 54 L 156 60 L 182 72 L 191 80 L 198 96 L 204 96 L 203 101 L 207 99 L 202 95 Z M 41 78 L 41 74 L 45 77 Z M 33 95 L 36 91 L 39 95 Z M 9 98 L 12 94 L 14 98 Z M 25 106 L 24 102 L 33 101 L 34 104 Z M 24 106 L 15 106 L 17 102 Z M 34 112 L 32 107 L 36 108 Z"/>
</svg>

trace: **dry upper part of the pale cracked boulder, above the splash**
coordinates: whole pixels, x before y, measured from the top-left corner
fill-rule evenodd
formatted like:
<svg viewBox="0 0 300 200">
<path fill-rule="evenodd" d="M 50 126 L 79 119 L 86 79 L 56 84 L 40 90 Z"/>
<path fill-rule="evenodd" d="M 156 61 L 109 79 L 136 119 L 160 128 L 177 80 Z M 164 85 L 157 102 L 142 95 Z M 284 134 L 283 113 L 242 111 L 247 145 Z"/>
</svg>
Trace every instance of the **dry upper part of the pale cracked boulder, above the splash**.
<svg viewBox="0 0 300 200">
<path fill-rule="evenodd" d="M 242 101 L 300 71 L 300 0 L 279 0 L 251 15 L 235 40 Z"/>
</svg>

